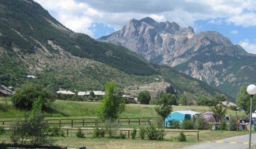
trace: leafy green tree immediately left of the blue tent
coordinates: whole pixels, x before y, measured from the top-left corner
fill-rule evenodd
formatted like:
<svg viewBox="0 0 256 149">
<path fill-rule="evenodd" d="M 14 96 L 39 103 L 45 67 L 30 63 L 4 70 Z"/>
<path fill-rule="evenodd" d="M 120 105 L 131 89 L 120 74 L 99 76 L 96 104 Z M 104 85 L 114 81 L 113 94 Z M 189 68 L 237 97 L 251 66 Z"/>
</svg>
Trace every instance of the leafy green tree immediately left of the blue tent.
<svg viewBox="0 0 256 149">
<path fill-rule="evenodd" d="M 164 120 L 173 111 L 172 105 L 175 103 L 177 103 L 175 95 L 163 94 L 159 100 L 159 106 L 155 107 L 155 112 Z"/>
</svg>

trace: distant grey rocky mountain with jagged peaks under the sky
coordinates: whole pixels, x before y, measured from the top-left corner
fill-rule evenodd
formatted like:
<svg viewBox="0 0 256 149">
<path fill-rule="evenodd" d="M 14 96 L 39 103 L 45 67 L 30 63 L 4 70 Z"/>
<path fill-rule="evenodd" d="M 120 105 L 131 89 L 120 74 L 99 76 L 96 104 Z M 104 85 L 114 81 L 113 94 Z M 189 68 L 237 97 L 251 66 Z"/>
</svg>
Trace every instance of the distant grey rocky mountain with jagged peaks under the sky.
<svg viewBox="0 0 256 149">
<path fill-rule="evenodd" d="M 239 88 L 256 83 L 256 55 L 233 45 L 216 31 L 195 34 L 175 22 L 132 19 L 121 30 L 98 41 L 127 47 L 151 62 L 173 66 L 236 97 Z M 242 73 L 243 72 L 243 73 Z"/>
</svg>

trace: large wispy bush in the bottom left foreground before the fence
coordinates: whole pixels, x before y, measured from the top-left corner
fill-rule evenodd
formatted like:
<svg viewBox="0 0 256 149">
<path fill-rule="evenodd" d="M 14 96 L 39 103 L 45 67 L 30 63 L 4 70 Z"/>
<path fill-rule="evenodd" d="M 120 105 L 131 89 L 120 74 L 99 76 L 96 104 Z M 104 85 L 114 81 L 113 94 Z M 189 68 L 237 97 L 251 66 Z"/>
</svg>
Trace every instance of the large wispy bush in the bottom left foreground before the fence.
<svg viewBox="0 0 256 149">
<path fill-rule="evenodd" d="M 11 142 L 22 145 L 52 145 L 55 140 L 47 137 L 47 129 L 47 123 L 41 112 L 35 112 L 30 117 L 25 115 L 24 121 L 18 119 L 11 127 Z"/>
</svg>

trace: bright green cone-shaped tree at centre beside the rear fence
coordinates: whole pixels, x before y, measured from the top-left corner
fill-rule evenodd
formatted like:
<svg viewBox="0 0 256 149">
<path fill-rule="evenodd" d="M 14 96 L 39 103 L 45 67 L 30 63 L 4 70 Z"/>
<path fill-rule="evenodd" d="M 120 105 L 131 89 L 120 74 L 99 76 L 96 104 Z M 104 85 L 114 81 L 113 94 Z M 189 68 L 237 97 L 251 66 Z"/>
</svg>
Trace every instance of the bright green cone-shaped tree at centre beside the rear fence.
<svg viewBox="0 0 256 149">
<path fill-rule="evenodd" d="M 103 96 L 102 104 L 97 110 L 97 115 L 102 121 L 114 121 L 118 115 L 124 112 L 125 103 L 121 100 L 121 93 L 117 91 L 115 83 L 106 83 L 106 94 Z"/>
</svg>

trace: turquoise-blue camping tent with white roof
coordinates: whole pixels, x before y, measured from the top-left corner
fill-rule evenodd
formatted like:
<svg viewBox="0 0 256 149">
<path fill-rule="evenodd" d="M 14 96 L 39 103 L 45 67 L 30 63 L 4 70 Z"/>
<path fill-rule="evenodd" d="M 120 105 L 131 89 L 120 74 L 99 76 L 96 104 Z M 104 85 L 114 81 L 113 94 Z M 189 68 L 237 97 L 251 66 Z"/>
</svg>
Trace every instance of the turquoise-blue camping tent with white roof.
<svg viewBox="0 0 256 149">
<path fill-rule="evenodd" d="M 175 121 L 179 121 L 179 122 L 182 122 L 184 121 L 185 119 L 188 119 L 190 120 L 194 115 L 196 114 L 200 114 L 198 112 L 195 112 L 195 111 L 174 111 L 172 113 L 170 113 L 167 118 L 165 118 L 165 121 L 167 122 L 167 126 L 170 126 L 170 122 L 172 122 L 173 120 Z M 165 126 L 166 126 L 166 123 L 165 123 Z"/>
</svg>

